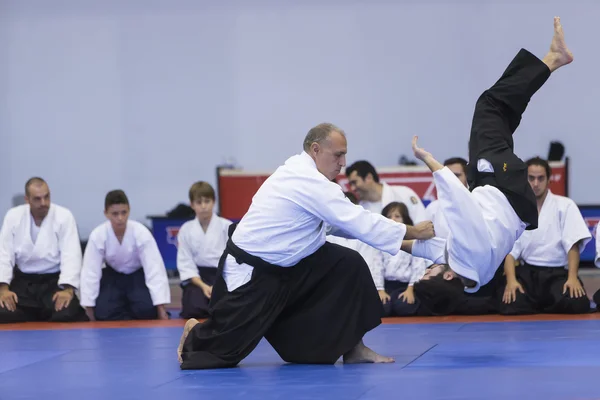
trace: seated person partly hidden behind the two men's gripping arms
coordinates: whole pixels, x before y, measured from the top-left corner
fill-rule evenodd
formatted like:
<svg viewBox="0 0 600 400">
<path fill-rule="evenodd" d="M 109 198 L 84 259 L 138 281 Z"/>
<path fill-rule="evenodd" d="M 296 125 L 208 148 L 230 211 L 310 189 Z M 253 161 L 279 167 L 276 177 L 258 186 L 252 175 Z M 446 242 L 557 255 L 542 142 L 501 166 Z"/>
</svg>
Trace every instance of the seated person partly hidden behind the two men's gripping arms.
<svg viewBox="0 0 600 400">
<path fill-rule="evenodd" d="M 406 225 L 413 225 L 406 204 L 391 202 L 381 212 L 387 218 Z M 434 225 L 435 227 L 435 225 Z M 437 233 L 437 232 L 436 232 Z M 374 274 L 375 286 L 384 304 L 384 316 L 404 317 L 416 315 L 420 305 L 415 297 L 414 283 L 425 274 L 431 264 L 424 258 L 414 257 L 404 251 L 391 255 L 380 252 L 383 258 L 382 273 Z"/>
</svg>

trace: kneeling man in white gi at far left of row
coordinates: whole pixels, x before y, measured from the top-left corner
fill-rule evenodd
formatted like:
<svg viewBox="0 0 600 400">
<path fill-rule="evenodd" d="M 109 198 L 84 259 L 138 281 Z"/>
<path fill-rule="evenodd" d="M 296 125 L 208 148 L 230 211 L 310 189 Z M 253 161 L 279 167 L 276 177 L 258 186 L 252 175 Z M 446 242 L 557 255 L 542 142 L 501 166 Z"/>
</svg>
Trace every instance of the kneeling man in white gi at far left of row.
<svg viewBox="0 0 600 400">
<path fill-rule="evenodd" d="M 87 321 L 75 296 L 81 243 L 73 214 L 50 202 L 38 177 L 25 184 L 25 203 L 0 230 L 0 322 Z"/>
</svg>

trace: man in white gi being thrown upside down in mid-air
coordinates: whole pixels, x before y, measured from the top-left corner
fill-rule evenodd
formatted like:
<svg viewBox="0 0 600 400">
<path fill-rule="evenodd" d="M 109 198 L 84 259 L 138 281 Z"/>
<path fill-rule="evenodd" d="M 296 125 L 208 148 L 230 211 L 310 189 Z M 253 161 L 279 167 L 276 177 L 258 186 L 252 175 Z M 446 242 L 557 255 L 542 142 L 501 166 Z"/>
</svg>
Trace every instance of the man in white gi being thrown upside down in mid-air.
<svg viewBox="0 0 600 400">
<path fill-rule="evenodd" d="M 471 127 L 469 189 L 413 138 L 415 156 L 433 172 L 450 230 L 447 239 L 403 242 L 404 251 L 435 263 L 415 285 L 417 297 L 429 299 L 434 307 L 448 307 L 440 293 L 450 286 L 455 293 L 477 291 L 493 278 L 523 231 L 537 228 L 536 198 L 527 165 L 514 154 L 513 133 L 531 97 L 553 72 L 572 61 L 560 18 L 555 17 L 545 57 L 540 60 L 521 49 L 500 79 L 483 92 Z"/>
</svg>

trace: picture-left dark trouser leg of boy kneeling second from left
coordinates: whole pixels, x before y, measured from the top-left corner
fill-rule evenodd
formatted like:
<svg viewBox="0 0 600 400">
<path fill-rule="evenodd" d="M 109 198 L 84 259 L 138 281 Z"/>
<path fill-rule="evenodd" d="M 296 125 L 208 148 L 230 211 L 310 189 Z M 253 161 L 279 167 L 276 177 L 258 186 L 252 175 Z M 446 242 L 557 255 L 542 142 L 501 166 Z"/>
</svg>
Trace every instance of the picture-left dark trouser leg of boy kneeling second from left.
<svg viewBox="0 0 600 400">
<path fill-rule="evenodd" d="M 96 299 L 94 315 L 98 321 L 126 321 L 132 319 L 127 308 L 127 294 L 121 283 L 122 276 L 114 269 L 106 267 L 102 270 L 100 292 Z"/>
</svg>

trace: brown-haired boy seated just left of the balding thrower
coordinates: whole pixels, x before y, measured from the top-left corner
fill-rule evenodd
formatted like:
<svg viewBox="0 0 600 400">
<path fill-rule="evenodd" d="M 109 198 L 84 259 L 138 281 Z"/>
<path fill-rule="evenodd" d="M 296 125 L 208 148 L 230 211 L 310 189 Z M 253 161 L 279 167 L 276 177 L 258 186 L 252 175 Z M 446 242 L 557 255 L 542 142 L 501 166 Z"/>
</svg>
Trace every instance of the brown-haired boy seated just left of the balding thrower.
<svg viewBox="0 0 600 400">
<path fill-rule="evenodd" d="M 177 235 L 177 269 L 183 288 L 180 315 L 206 318 L 231 221 L 214 213 L 215 191 L 209 183 L 194 183 L 189 197 L 196 218 L 183 224 Z"/>
</svg>

